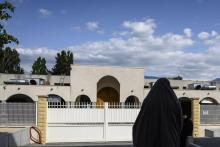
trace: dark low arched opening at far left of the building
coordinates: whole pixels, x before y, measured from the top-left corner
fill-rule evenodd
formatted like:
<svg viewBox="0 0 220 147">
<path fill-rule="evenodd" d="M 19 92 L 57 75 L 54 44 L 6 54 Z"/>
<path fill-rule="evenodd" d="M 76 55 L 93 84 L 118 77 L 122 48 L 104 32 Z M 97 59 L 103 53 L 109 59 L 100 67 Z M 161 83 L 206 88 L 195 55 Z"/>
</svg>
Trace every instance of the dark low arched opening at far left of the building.
<svg viewBox="0 0 220 147">
<path fill-rule="evenodd" d="M 34 101 L 25 94 L 15 94 L 10 96 L 7 100 L 7 103 L 33 103 Z"/>
</svg>

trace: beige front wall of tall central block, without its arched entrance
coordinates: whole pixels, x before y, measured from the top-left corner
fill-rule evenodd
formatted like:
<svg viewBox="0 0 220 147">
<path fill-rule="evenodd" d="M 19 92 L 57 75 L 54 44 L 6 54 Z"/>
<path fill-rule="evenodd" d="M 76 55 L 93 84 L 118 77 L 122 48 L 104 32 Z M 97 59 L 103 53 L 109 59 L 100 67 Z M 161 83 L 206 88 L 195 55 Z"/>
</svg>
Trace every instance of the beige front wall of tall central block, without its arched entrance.
<svg viewBox="0 0 220 147">
<path fill-rule="evenodd" d="M 130 95 L 135 95 L 139 99 L 143 98 L 143 68 L 87 65 L 72 65 L 71 68 L 71 98 L 73 101 L 77 96 L 84 94 L 89 96 L 92 102 L 96 102 L 97 82 L 104 76 L 112 76 L 120 83 L 121 102 L 124 102 Z"/>
</svg>

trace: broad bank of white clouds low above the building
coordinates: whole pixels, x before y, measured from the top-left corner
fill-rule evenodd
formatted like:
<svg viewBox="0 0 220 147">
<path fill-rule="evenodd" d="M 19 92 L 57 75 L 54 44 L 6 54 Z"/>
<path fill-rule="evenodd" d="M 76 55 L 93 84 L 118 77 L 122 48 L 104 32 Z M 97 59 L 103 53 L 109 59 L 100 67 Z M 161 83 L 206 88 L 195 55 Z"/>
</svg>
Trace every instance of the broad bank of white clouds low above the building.
<svg viewBox="0 0 220 147">
<path fill-rule="evenodd" d="M 67 47 L 73 51 L 75 63 L 142 66 L 146 75 L 181 75 L 186 79 L 214 79 L 220 76 L 220 35 L 216 31 L 198 34 L 199 41 L 207 46 L 205 51 L 186 52 L 185 49 L 196 48 L 195 41 L 198 41 L 192 39 L 190 28 L 183 29 L 182 34 L 167 32 L 155 35 L 156 23 L 152 19 L 124 21 L 122 26 L 123 30 L 108 40 Z M 47 48 L 19 48 L 18 51 L 24 57 L 22 60 L 26 60 L 22 65 L 32 65 L 37 56 L 43 56 L 52 66 L 57 53 L 57 50 Z"/>
</svg>

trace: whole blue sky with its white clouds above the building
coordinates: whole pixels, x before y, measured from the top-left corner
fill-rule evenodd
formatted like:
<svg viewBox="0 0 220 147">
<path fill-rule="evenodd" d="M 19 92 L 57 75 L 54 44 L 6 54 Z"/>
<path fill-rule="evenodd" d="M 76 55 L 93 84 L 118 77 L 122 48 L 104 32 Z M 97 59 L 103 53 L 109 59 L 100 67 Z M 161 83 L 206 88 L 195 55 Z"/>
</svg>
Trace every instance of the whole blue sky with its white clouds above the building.
<svg viewBox="0 0 220 147">
<path fill-rule="evenodd" d="M 220 75 L 219 0 L 11 0 L 8 32 L 22 66 L 38 56 L 51 68 L 62 49 L 77 64 L 140 66 L 146 75 Z"/>
</svg>

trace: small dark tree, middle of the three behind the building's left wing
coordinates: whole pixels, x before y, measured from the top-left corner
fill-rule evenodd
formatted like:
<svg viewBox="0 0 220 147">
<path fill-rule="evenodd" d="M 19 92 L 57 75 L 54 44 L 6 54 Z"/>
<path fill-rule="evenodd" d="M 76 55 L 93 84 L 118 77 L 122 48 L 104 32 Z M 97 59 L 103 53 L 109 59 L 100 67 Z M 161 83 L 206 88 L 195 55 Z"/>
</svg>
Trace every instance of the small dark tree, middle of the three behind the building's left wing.
<svg viewBox="0 0 220 147">
<path fill-rule="evenodd" d="M 45 58 L 38 57 L 32 65 L 32 74 L 46 75 L 48 73 Z"/>
</svg>

